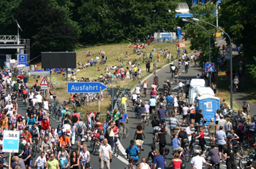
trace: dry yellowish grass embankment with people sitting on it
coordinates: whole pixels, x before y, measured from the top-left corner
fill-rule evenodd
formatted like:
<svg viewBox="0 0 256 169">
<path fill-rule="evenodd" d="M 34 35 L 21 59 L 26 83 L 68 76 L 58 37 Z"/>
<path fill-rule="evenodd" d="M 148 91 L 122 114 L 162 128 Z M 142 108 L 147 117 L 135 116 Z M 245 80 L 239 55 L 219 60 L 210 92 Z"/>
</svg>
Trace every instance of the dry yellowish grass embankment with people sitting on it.
<svg viewBox="0 0 256 169">
<path fill-rule="evenodd" d="M 188 50 L 188 52 L 191 52 L 189 50 L 189 46 L 190 46 L 190 42 L 186 42 L 186 49 Z M 142 50 L 143 52 L 147 53 L 147 57 L 149 57 L 149 54 L 151 52 L 151 50 L 153 49 L 153 47 L 155 47 L 156 52 L 152 52 L 153 56 L 153 60 L 157 60 L 157 50 L 160 49 L 168 49 L 170 50 L 171 54 L 174 56 L 174 58 L 176 58 L 176 44 L 151 44 L 150 47 L 147 47 L 146 49 Z M 87 57 L 87 54 L 82 54 L 83 49 L 86 49 L 87 52 L 91 52 L 91 56 Z M 97 47 L 88 47 L 88 48 L 80 48 L 79 50 L 77 50 L 77 63 L 80 61 L 82 64 L 86 63 L 87 60 L 91 61 L 91 58 L 93 58 L 95 60 L 95 56 L 99 56 L 100 60 L 101 57 L 99 55 L 99 51 L 103 50 L 105 52 L 105 55 L 107 56 L 108 60 L 107 63 L 105 65 L 96 65 L 96 66 L 89 66 L 86 69 L 80 69 L 80 71 L 75 72 L 76 75 L 76 79 L 81 79 L 81 77 L 89 77 L 90 80 L 92 79 L 98 79 L 100 74 L 105 74 L 106 71 L 104 71 L 105 66 L 119 66 L 120 63 L 116 60 L 116 58 L 124 58 L 125 62 L 130 60 L 132 62 L 132 60 L 134 60 L 135 58 L 137 58 L 137 54 L 134 53 L 134 49 L 129 48 L 127 46 L 127 44 L 110 44 L 110 45 L 102 45 L 102 46 L 97 46 Z M 182 49 L 181 49 L 182 50 Z M 129 58 L 125 58 L 125 54 L 126 52 L 129 53 Z M 140 57 L 141 59 L 143 58 L 142 56 Z M 158 68 L 162 68 L 162 66 L 164 66 L 165 64 L 167 64 L 167 60 L 166 58 L 163 58 L 163 54 L 161 54 L 161 60 L 159 63 L 157 63 Z M 100 67 L 101 71 L 96 71 L 97 66 Z M 127 66 L 124 65 L 124 68 L 126 68 Z M 38 68 L 40 68 L 40 65 L 38 66 Z M 80 66 L 77 66 L 77 69 L 79 69 Z M 149 73 L 146 73 L 146 63 L 141 63 L 140 64 L 140 68 L 143 71 L 143 77 L 148 76 Z M 151 72 L 153 71 L 153 63 L 151 63 Z M 110 70 L 110 72 L 115 72 L 115 70 Z M 49 79 L 49 78 L 48 78 Z M 42 78 L 38 79 L 39 82 L 41 82 Z M 59 102 L 63 102 L 63 101 L 68 101 L 70 95 L 69 93 L 67 93 L 67 83 L 66 81 L 62 80 L 62 75 L 61 74 L 51 74 L 51 82 L 52 84 L 56 84 L 56 82 L 59 82 L 58 84 L 58 88 L 55 90 L 55 93 L 57 95 L 57 100 Z M 127 87 L 129 86 L 130 88 L 134 87 L 135 84 L 137 84 L 138 82 L 134 82 L 132 80 L 125 80 L 122 81 L 118 84 L 112 84 L 112 85 L 108 85 L 108 87 L 116 87 L 118 85 L 118 87 Z M 34 84 L 34 79 L 30 79 L 29 80 L 29 87 L 32 86 L 32 84 Z M 101 101 L 100 103 L 100 111 L 105 111 L 106 108 L 108 108 L 110 104 L 110 99 L 106 98 L 105 92 L 104 92 L 104 100 Z M 91 106 L 86 106 L 86 108 L 78 108 L 78 111 L 82 111 L 82 112 L 90 112 L 90 111 L 98 111 L 97 108 L 97 102 L 93 103 Z"/>
</svg>

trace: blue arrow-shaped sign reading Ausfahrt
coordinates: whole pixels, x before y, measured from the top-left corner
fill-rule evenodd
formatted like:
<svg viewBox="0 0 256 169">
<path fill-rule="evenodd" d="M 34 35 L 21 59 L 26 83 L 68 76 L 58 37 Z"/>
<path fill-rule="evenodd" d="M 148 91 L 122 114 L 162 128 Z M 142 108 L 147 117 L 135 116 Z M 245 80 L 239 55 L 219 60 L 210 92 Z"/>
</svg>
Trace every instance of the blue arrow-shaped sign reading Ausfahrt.
<svg viewBox="0 0 256 169">
<path fill-rule="evenodd" d="M 67 93 L 99 93 L 99 87 L 102 87 L 102 90 L 107 88 L 100 82 L 69 82 Z"/>
</svg>

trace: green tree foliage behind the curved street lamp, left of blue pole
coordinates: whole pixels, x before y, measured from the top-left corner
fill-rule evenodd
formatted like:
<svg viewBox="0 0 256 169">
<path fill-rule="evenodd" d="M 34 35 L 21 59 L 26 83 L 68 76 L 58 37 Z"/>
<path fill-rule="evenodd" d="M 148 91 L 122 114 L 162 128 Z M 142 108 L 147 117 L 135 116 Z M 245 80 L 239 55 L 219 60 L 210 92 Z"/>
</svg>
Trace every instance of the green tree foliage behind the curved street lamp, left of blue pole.
<svg viewBox="0 0 256 169">
<path fill-rule="evenodd" d="M 192 17 L 196 17 L 200 20 L 205 20 L 208 23 L 215 23 L 216 19 L 214 16 L 215 6 L 214 4 L 205 4 L 204 6 L 200 3 L 197 5 L 193 5 L 191 8 L 192 11 Z M 191 20 L 192 22 L 195 22 Z M 196 23 L 196 22 L 195 22 Z M 219 56 L 219 47 L 216 47 L 215 42 L 215 36 L 214 36 L 214 28 L 211 25 L 208 25 L 206 23 L 197 23 L 198 25 L 201 25 L 203 28 L 206 28 L 206 30 L 210 34 L 211 38 L 211 61 L 216 61 L 217 56 Z M 199 26 L 192 24 L 192 23 L 186 23 L 185 24 L 186 29 L 186 38 L 191 38 L 191 50 L 200 50 L 201 55 L 203 57 L 200 57 L 200 60 L 205 62 L 209 58 L 209 36 L 208 33 L 200 28 Z"/>
</svg>

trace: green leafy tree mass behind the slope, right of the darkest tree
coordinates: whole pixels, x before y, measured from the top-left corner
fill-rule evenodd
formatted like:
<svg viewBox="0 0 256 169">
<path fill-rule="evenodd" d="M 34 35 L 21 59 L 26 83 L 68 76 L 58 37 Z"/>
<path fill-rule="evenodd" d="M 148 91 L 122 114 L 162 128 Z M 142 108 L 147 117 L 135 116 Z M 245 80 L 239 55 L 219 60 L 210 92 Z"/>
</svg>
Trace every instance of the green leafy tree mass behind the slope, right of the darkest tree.
<svg viewBox="0 0 256 169">
<path fill-rule="evenodd" d="M 120 34 L 137 39 L 158 29 L 173 31 L 176 7 L 176 2 L 163 0 L 82 0 L 78 12 L 83 43 L 106 42 Z"/>
</svg>

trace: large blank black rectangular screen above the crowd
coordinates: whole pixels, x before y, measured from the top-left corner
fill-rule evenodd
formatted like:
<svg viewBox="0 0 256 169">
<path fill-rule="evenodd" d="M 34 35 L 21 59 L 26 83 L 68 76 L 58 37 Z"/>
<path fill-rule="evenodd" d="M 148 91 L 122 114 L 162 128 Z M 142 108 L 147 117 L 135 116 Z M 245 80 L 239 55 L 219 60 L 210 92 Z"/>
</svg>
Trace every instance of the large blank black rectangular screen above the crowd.
<svg viewBox="0 0 256 169">
<path fill-rule="evenodd" d="M 41 52 L 42 68 L 76 68 L 76 52 Z"/>
</svg>

